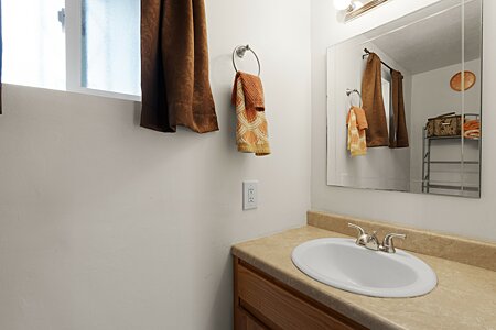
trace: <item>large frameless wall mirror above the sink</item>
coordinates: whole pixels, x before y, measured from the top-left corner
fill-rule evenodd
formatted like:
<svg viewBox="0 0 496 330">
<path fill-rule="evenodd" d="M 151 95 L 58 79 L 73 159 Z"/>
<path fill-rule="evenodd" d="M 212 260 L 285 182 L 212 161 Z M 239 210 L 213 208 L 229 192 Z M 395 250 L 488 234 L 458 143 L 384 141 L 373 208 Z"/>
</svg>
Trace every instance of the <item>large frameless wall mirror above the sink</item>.
<svg viewBox="0 0 496 330">
<path fill-rule="evenodd" d="M 482 0 L 327 50 L 327 185 L 481 197 Z"/>
</svg>

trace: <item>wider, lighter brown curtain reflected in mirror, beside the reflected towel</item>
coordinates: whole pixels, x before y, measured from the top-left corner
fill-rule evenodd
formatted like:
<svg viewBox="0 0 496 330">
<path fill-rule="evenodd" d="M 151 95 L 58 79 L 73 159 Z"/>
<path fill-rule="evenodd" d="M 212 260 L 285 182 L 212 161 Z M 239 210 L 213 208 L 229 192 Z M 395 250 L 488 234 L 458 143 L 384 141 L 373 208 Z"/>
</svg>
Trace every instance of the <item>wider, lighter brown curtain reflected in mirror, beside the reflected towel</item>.
<svg viewBox="0 0 496 330">
<path fill-rule="evenodd" d="M 367 146 L 388 146 L 388 127 L 382 100 L 382 73 L 379 56 L 370 53 L 362 78 L 362 99 L 367 117 Z"/>
</svg>

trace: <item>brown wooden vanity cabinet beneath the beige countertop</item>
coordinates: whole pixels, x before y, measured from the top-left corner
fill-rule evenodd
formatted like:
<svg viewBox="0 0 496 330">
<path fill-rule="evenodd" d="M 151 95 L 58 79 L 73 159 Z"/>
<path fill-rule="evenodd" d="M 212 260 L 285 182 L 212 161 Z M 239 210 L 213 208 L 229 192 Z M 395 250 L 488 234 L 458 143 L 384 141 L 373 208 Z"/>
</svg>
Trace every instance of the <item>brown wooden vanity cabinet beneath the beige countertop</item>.
<svg viewBox="0 0 496 330">
<path fill-rule="evenodd" d="M 367 329 L 234 257 L 235 330 Z"/>
</svg>

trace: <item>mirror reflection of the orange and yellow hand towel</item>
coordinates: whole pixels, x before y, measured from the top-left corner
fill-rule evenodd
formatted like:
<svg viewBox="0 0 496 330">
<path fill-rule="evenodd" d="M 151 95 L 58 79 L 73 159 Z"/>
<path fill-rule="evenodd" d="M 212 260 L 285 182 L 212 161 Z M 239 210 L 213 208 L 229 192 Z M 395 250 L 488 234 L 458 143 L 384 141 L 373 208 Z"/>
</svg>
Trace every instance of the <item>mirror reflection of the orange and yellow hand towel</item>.
<svg viewBox="0 0 496 330">
<path fill-rule="evenodd" d="M 365 130 L 368 129 L 367 118 L 362 108 L 352 107 L 346 120 L 348 125 L 348 150 L 352 156 L 363 156 L 367 154 L 367 139 Z"/>
</svg>

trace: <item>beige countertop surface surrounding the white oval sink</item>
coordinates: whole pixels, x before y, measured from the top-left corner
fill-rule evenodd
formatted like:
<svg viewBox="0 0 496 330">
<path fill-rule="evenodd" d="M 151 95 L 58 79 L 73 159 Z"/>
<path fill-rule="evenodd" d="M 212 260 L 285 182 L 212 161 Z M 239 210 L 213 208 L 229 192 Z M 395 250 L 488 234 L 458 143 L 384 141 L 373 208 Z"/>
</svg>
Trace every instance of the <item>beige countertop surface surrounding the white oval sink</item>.
<svg viewBox="0 0 496 330">
<path fill-rule="evenodd" d="M 293 265 L 296 245 L 327 237 L 345 235 L 306 226 L 236 244 L 233 254 L 370 329 L 496 329 L 496 272 L 410 252 L 438 275 L 433 292 L 414 298 L 362 296 L 314 280 Z"/>
</svg>

